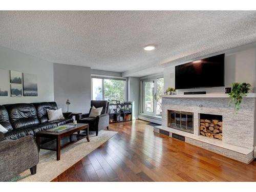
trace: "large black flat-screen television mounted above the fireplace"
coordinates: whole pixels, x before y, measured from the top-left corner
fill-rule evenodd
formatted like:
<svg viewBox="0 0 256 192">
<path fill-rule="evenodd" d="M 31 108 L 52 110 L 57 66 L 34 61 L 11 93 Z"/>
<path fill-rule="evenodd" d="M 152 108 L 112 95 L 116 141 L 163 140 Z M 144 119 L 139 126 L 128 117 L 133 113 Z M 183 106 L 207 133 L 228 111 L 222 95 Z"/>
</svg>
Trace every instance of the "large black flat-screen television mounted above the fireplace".
<svg viewBox="0 0 256 192">
<path fill-rule="evenodd" d="M 175 89 L 224 87 L 225 54 L 175 67 Z"/>
</svg>

